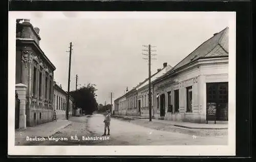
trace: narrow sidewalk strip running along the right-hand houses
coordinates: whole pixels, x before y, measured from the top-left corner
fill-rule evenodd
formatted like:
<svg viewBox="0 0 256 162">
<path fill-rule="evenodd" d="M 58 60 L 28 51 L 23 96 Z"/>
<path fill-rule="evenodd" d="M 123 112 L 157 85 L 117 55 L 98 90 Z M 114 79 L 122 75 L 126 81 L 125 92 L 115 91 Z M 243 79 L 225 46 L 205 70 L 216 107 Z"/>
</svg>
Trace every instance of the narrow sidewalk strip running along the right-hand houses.
<svg viewBox="0 0 256 162">
<path fill-rule="evenodd" d="M 140 119 L 141 121 L 149 121 L 148 118 L 140 118 L 140 117 L 132 117 L 132 116 L 121 116 L 121 115 L 113 115 L 112 117 L 117 118 L 126 118 L 126 119 Z M 201 123 L 190 123 L 190 122 L 179 122 L 179 121 L 167 121 L 167 120 L 158 120 L 152 119 L 152 122 L 156 123 L 164 123 L 169 124 L 175 127 L 181 127 L 186 129 L 207 129 L 207 130 L 227 130 L 228 124 L 201 124 Z"/>
</svg>

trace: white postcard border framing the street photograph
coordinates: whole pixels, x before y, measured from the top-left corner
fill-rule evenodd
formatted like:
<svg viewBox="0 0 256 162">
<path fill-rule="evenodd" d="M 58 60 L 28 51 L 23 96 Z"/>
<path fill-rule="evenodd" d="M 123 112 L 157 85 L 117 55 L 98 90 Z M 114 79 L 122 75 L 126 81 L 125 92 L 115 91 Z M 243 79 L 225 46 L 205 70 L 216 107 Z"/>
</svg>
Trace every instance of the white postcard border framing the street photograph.
<svg viewBox="0 0 256 162">
<path fill-rule="evenodd" d="M 32 11 L 9 12 L 8 47 L 8 154 L 9 155 L 236 155 L 236 12 L 69 12 L 73 18 L 211 18 L 215 13 L 229 18 L 229 96 L 227 146 L 14 146 L 15 116 L 15 26 L 17 18 L 32 19 Z M 66 12 L 67 13 L 67 12 Z M 43 18 L 69 18 L 62 12 L 43 12 Z"/>
</svg>

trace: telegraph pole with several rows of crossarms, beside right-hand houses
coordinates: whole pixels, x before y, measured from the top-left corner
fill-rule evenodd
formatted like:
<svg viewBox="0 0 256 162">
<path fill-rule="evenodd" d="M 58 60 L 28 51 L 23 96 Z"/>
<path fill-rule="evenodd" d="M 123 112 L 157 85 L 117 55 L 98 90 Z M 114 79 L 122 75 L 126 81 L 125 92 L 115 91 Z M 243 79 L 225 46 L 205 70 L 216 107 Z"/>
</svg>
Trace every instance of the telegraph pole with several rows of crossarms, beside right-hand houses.
<svg viewBox="0 0 256 162">
<path fill-rule="evenodd" d="M 155 51 L 155 50 L 151 50 L 151 44 L 143 45 L 143 47 L 148 48 L 148 50 L 143 50 L 148 52 L 148 54 L 143 54 L 148 56 L 148 58 L 143 58 L 143 59 L 148 60 L 148 109 L 150 111 L 150 122 L 151 122 L 152 121 L 151 60 L 152 59 L 154 60 L 154 58 L 151 58 L 151 56 L 156 54 L 151 54 L 152 51 Z"/>
</svg>

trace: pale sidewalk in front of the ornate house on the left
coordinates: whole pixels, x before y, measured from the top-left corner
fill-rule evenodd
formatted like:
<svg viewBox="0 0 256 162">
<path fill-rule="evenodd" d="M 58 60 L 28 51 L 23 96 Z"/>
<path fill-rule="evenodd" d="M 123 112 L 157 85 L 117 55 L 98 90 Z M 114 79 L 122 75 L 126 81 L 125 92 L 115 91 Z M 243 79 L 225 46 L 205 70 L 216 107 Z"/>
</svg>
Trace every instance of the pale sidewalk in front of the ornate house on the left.
<svg viewBox="0 0 256 162">
<path fill-rule="evenodd" d="M 26 129 L 15 130 L 15 145 L 26 144 L 26 137 L 47 137 L 55 134 L 62 128 L 71 124 L 68 120 L 57 120 L 57 122 L 48 122 L 34 127 L 27 127 Z"/>
</svg>

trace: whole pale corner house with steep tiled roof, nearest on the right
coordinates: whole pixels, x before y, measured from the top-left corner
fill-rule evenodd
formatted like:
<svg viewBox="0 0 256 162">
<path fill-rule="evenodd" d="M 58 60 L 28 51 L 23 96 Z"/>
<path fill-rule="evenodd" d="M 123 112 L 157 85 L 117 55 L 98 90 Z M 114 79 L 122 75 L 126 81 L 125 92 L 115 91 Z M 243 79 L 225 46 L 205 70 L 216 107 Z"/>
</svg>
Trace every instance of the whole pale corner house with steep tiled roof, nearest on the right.
<svg viewBox="0 0 256 162">
<path fill-rule="evenodd" d="M 228 27 L 152 82 L 156 119 L 228 121 Z"/>
</svg>

